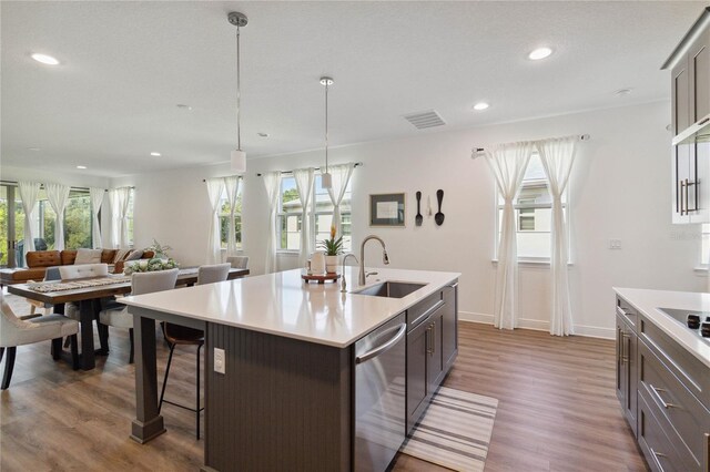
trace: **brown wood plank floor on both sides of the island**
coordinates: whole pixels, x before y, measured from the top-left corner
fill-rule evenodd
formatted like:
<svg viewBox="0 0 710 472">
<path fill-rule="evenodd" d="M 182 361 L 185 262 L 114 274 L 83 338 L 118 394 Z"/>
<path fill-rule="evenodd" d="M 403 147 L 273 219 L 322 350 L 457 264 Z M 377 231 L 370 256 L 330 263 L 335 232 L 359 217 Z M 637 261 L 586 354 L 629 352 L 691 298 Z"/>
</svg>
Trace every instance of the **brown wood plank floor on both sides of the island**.
<svg viewBox="0 0 710 472">
<path fill-rule="evenodd" d="M 613 342 L 554 338 L 460 325 L 447 387 L 499 400 L 486 471 L 645 471 L 615 396 Z M 168 349 L 159 342 L 159 374 Z M 90 372 L 49 357 L 49 343 L 18 349 L 0 394 L 0 470 L 195 471 L 203 441 L 194 415 L 166 404 L 169 432 L 145 445 L 129 439 L 134 417 L 128 337 L 111 330 L 111 355 Z M 191 401 L 194 348 L 175 350 L 166 397 Z M 395 471 L 437 471 L 399 456 Z"/>
</svg>

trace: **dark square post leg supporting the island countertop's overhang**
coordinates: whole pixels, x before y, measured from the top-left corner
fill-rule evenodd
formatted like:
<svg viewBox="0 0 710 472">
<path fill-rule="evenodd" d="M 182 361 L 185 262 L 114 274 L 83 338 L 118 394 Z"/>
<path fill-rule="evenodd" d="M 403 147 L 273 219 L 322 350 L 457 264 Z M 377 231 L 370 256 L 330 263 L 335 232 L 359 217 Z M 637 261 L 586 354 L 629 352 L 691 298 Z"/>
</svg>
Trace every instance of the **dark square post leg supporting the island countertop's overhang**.
<svg viewBox="0 0 710 472">
<path fill-rule="evenodd" d="M 165 432 L 158 410 L 158 363 L 155 361 L 155 320 L 133 316 L 135 342 L 135 420 L 131 439 L 141 444 Z"/>
</svg>

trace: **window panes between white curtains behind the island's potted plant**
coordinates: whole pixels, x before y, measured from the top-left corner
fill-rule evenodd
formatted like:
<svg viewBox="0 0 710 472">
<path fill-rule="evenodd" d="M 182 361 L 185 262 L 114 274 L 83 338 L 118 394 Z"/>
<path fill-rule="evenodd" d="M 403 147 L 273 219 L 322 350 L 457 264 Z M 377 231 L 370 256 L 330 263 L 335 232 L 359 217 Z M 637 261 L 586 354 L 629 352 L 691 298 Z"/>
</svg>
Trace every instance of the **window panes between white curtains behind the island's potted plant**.
<svg viewBox="0 0 710 472">
<path fill-rule="evenodd" d="M 352 181 L 351 181 L 352 182 Z M 322 187 L 321 175 L 315 176 L 311 199 L 315 202 L 313 245 L 316 242 L 331 237 L 333 224 L 333 203 L 328 191 Z M 349 252 L 352 247 L 351 236 L 351 184 L 348 183 L 341 202 L 341 222 L 343 232 L 343 250 Z M 303 225 L 303 206 L 298 198 L 296 181 L 292 176 L 283 176 L 281 179 L 281 199 L 278 205 L 277 228 L 278 249 L 301 249 L 301 226 Z"/>
</svg>

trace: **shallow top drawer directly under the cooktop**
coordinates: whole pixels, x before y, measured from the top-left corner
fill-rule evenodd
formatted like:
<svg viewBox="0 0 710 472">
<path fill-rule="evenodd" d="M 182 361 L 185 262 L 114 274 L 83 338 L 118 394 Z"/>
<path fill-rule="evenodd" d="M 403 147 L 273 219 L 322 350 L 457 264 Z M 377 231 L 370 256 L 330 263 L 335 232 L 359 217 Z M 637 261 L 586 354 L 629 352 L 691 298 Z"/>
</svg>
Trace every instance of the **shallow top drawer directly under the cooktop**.
<svg viewBox="0 0 710 472">
<path fill-rule="evenodd" d="M 639 317 L 639 338 L 676 378 L 706 408 L 710 406 L 710 376 L 708 367 L 673 341 L 660 328 Z"/>
</svg>

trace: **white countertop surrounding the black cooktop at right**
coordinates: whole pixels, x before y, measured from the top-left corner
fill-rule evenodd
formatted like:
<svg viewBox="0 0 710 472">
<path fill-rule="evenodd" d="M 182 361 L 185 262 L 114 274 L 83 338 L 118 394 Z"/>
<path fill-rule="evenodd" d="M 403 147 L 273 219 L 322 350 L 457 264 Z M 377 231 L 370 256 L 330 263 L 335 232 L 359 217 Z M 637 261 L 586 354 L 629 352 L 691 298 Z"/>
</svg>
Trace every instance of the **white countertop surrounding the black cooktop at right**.
<svg viewBox="0 0 710 472">
<path fill-rule="evenodd" d="M 659 308 L 674 308 L 688 311 L 710 311 L 710 294 L 616 287 L 613 290 L 660 327 L 663 332 L 710 367 L 710 345 L 674 318 L 659 310 Z"/>
</svg>

